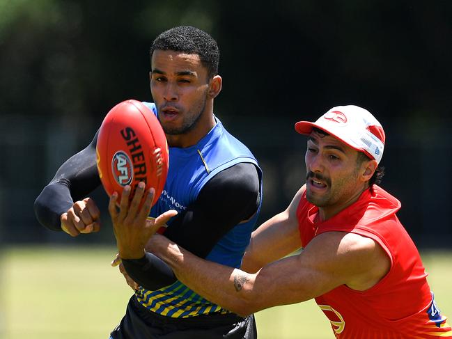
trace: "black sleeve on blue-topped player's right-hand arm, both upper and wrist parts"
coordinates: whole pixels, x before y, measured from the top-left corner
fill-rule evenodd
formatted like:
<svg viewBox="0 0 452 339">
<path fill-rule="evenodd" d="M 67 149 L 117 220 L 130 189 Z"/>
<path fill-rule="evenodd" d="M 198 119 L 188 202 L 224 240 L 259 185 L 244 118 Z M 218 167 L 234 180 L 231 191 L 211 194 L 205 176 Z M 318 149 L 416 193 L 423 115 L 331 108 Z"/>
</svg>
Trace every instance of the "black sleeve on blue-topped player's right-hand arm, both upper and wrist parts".
<svg viewBox="0 0 452 339">
<path fill-rule="evenodd" d="M 256 213 L 260 202 L 259 191 L 260 178 L 253 164 L 231 166 L 205 184 L 196 201 L 176 216 L 164 235 L 205 258 L 221 237 L 237 223 Z M 176 282 L 171 269 L 168 267 L 171 274 L 167 269 L 162 269 L 162 265 L 166 264 L 155 255 L 123 260 L 123 265 L 127 274 L 148 290 L 157 290 Z"/>
</svg>

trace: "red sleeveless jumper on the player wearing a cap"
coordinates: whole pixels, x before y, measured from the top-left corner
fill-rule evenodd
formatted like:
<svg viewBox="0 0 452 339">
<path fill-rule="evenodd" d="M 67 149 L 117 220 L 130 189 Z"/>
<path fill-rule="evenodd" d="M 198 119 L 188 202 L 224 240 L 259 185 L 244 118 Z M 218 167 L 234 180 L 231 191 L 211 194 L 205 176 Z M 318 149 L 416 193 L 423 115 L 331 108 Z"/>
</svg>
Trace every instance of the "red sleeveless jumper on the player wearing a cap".
<svg viewBox="0 0 452 339">
<path fill-rule="evenodd" d="M 374 185 L 357 202 L 331 219 L 315 222 L 318 207 L 303 194 L 297 207 L 302 246 L 323 232 L 352 232 L 380 244 L 391 269 L 366 291 L 338 286 L 315 298 L 328 317 L 336 338 L 452 338 L 427 283 L 421 257 L 398 220 L 400 202 Z"/>
</svg>

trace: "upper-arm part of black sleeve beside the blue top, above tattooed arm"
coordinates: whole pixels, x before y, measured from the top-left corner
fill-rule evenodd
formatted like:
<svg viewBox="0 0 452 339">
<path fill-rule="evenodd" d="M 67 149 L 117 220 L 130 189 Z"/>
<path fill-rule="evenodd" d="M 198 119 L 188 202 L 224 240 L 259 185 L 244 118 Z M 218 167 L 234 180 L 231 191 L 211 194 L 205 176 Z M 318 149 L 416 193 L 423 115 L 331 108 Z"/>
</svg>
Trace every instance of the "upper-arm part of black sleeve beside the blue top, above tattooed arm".
<svg viewBox="0 0 452 339">
<path fill-rule="evenodd" d="M 176 216 L 165 237 L 205 258 L 221 237 L 257 212 L 259 188 L 254 164 L 226 168 L 205 184 L 185 212 Z"/>
</svg>

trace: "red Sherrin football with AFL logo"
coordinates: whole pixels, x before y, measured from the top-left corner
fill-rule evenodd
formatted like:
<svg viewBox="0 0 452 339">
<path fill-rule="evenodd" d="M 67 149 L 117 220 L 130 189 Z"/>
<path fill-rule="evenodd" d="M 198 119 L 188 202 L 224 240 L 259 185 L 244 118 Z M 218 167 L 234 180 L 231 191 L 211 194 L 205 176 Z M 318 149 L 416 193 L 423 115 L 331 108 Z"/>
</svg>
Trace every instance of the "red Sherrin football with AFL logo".
<svg viewBox="0 0 452 339">
<path fill-rule="evenodd" d="M 125 185 L 132 187 L 132 198 L 139 182 L 155 188 L 154 203 L 162 194 L 168 173 L 166 136 L 159 120 L 145 104 L 126 100 L 113 107 L 100 126 L 98 143 L 100 181 L 111 196 Z"/>
</svg>

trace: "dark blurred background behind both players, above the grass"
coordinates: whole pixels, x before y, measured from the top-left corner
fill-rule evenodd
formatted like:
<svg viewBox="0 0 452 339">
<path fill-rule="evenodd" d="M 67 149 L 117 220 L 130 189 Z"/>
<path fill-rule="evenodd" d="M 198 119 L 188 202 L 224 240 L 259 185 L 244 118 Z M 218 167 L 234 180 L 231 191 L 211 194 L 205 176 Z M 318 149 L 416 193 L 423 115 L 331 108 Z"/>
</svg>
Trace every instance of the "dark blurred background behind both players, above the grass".
<svg viewBox="0 0 452 339">
<path fill-rule="evenodd" d="M 452 242 L 452 1 L 0 0 L 0 226 L 3 242 L 114 244 L 40 226 L 33 200 L 120 101 L 150 101 L 148 50 L 162 31 L 217 40 L 215 113 L 265 171 L 260 221 L 304 182 L 293 129 L 358 104 L 387 134 L 382 186 L 421 247 Z M 102 189 L 93 193 L 106 211 Z"/>
</svg>

